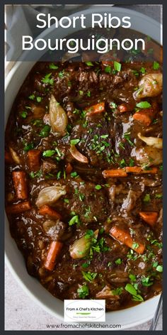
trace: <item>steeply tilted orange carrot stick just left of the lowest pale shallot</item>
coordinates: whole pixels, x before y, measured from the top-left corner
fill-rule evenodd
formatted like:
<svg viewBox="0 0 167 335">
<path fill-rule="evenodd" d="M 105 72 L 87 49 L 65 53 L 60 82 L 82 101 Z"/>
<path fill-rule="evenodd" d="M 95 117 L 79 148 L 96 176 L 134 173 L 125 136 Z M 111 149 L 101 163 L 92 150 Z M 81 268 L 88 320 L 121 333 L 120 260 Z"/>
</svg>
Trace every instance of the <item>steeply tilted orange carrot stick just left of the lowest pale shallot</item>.
<svg viewBox="0 0 167 335">
<path fill-rule="evenodd" d="M 52 241 L 50 248 L 47 251 L 47 257 L 44 263 L 45 269 L 52 271 L 54 269 L 55 261 L 59 252 L 61 251 L 63 243 L 59 241 Z"/>
</svg>

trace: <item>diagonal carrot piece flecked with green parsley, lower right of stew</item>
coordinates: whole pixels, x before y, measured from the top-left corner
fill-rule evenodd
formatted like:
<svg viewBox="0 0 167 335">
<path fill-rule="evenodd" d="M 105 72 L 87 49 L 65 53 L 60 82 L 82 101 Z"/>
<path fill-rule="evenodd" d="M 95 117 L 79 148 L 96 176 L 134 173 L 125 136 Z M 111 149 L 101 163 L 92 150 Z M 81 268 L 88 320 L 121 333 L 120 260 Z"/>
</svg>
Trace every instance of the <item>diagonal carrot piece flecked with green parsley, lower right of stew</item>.
<svg viewBox="0 0 167 335">
<path fill-rule="evenodd" d="M 129 233 L 127 233 L 127 231 L 123 231 L 122 229 L 117 228 L 117 226 L 113 226 L 113 228 L 110 229 L 110 235 L 134 251 L 137 251 L 137 253 L 144 252 L 144 244 L 133 241 L 132 237 Z"/>
</svg>

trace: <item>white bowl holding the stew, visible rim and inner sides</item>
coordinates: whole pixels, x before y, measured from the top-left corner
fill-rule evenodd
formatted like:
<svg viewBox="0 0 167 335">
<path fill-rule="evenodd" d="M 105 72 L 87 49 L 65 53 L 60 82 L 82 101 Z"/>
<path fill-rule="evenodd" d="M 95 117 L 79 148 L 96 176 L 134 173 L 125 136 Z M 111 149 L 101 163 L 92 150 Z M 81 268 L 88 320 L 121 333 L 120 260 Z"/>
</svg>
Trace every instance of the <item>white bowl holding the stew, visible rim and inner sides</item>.
<svg viewBox="0 0 167 335">
<path fill-rule="evenodd" d="M 95 8 L 91 7 L 84 11 L 87 16 L 88 24 L 91 26 L 91 13 L 95 12 Z M 131 11 L 129 9 L 117 8 L 104 6 L 102 9 L 98 7 L 98 13 L 110 12 L 115 16 L 131 16 L 132 29 L 150 35 L 151 38 L 161 43 L 160 23 L 154 21 L 153 19 L 138 13 L 136 11 Z M 82 12 L 76 13 L 80 15 Z M 79 27 L 78 27 L 79 28 Z M 79 30 L 79 29 L 78 29 Z M 68 33 L 71 33 L 71 29 L 68 29 Z M 60 28 L 57 30 L 57 38 L 63 38 L 67 35 L 66 30 L 64 31 Z M 50 30 L 46 29 L 38 38 L 43 37 L 54 37 L 54 27 Z M 11 72 L 9 72 L 6 78 L 6 94 L 5 94 L 5 118 L 8 120 L 8 116 L 11 111 L 11 106 L 18 93 L 18 90 L 23 84 L 25 77 L 30 72 L 35 62 L 16 62 Z M 19 285 L 23 287 L 23 290 L 31 297 L 36 303 L 38 303 L 42 309 L 46 312 L 52 314 L 54 317 L 63 320 L 63 302 L 53 297 L 50 292 L 47 292 L 40 282 L 35 278 L 28 275 L 25 268 L 25 261 L 21 252 L 16 246 L 16 242 L 11 238 L 9 231 L 8 220 L 6 219 L 5 224 L 5 249 L 6 249 L 6 263 L 9 270 L 16 278 Z M 128 309 L 122 309 L 120 311 L 108 312 L 106 314 L 106 323 L 108 324 L 121 324 L 121 329 L 126 329 L 131 326 L 136 326 L 142 324 L 154 316 L 156 306 L 159 302 L 159 295 L 142 302 L 135 307 L 130 307 Z M 114 329 L 115 330 L 115 329 Z"/>
</svg>

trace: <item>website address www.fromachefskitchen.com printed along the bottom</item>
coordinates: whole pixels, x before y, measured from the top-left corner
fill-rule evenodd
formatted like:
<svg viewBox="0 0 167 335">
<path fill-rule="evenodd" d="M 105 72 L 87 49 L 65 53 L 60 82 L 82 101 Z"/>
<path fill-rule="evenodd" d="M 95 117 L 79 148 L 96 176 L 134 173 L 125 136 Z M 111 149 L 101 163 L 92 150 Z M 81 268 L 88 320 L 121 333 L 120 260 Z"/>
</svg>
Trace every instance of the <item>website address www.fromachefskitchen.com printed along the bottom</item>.
<svg viewBox="0 0 167 335">
<path fill-rule="evenodd" d="M 47 329 L 121 329 L 121 324 L 46 324 Z"/>
</svg>

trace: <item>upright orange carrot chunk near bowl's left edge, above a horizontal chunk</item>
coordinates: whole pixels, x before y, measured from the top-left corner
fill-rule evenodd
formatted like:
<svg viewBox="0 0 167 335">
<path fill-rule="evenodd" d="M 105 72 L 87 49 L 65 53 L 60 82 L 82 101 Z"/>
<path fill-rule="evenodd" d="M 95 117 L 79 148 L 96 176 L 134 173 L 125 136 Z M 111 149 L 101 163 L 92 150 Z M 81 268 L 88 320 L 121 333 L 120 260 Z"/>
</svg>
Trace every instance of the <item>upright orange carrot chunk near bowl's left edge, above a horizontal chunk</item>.
<svg viewBox="0 0 167 335">
<path fill-rule="evenodd" d="M 13 171 L 13 185 L 18 199 L 28 198 L 28 187 L 26 181 L 26 173 L 24 171 Z"/>
</svg>

